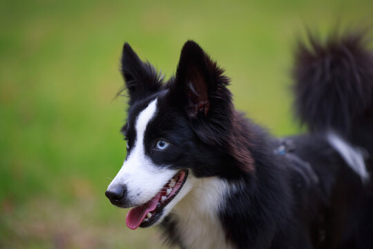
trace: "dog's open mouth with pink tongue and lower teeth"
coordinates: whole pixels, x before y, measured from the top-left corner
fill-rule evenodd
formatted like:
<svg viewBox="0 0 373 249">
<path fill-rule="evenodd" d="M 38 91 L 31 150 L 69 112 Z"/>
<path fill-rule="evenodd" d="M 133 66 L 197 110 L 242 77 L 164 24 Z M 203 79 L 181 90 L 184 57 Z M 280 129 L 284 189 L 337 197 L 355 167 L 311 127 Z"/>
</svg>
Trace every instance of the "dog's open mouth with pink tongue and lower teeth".
<svg viewBox="0 0 373 249">
<path fill-rule="evenodd" d="M 139 226 L 147 228 L 153 225 L 162 216 L 163 208 L 180 192 L 187 176 L 188 172 L 181 170 L 162 187 L 162 190 L 153 199 L 144 205 L 131 209 L 126 216 L 127 227 L 135 230 Z"/>
</svg>

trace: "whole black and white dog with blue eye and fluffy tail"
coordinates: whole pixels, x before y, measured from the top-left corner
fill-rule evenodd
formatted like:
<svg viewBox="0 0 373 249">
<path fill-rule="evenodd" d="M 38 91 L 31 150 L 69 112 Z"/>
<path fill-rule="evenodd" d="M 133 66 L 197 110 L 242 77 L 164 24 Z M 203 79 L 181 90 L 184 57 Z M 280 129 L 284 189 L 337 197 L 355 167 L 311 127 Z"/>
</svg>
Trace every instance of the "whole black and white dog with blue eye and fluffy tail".
<svg viewBox="0 0 373 249">
<path fill-rule="evenodd" d="M 363 35 L 300 44 L 295 108 L 276 139 L 232 104 L 229 78 L 189 41 L 167 82 L 124 44 L 127 156 L 106 196 L 128 228 L 180 248 L 373 248 L 373 53 Z"/>
</svg>

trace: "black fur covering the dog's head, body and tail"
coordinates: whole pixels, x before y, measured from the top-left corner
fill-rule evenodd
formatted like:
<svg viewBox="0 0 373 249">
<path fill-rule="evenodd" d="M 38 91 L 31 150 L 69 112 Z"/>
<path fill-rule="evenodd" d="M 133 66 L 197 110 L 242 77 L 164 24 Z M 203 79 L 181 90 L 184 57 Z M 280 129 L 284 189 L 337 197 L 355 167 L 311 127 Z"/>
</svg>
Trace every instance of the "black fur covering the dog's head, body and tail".
<svg viewBox="0 0 373 249">
<path fill-rule="evenodd" d="M 152 160 L 240 186 L 218 212 L 221 236 L 236 248 L 373 248 L 373 185 L 327 139 L 333 131 L 363 148 L 372 172 L 373 53 L 361 34 L 310 41 L 298 46 L 294 66 L 296 113 L 310 133 L 284 140 L 234 109 L 229 78 L 195 42 L 184 45 L 176 75 L 165 83 L 124 46 L 128 122 L 158 98 L 154 123 L 167 124 L 162 136 L 180 145 Z M 134 140 L 128 125 L 123 131 Z M 184 248 L 172 215 L 162 226 Z"/>
</svg>

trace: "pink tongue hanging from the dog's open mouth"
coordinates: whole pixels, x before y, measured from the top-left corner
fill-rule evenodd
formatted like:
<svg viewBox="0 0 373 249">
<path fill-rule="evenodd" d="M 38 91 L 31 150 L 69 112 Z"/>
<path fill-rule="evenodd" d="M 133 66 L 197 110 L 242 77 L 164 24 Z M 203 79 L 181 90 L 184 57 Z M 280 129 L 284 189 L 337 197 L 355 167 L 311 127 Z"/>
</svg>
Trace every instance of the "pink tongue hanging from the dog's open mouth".
<svg viewBox="0 0 373 249">
<path fill-rule="evenodd" d="M 140 205 L 131 209 L 126 216 L 126 225 L 128 228 L 135 230 L 144 220 L 146 214 L 157 208 L 157 203 L 160 200 L 160 192 L 144 205 Z"/>
</svg>

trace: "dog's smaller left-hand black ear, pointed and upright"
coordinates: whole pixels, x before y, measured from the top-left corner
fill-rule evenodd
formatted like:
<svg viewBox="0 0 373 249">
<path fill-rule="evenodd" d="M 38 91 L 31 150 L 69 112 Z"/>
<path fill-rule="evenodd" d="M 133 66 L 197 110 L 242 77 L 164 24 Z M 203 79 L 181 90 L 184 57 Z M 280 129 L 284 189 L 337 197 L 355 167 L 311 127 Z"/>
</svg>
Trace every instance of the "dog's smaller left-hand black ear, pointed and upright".
<svg viewBox="0 0 373 249">
<path fill-rule="evenodd" d="M 126 82 L 124 89 L 128 90 L 131 98 L 130 105 L 162 87 L 162 80 L 153 66 L 149 62 L 142 62 L 128 43 L 123 46 L 122 75 Z"/>
</svg>

